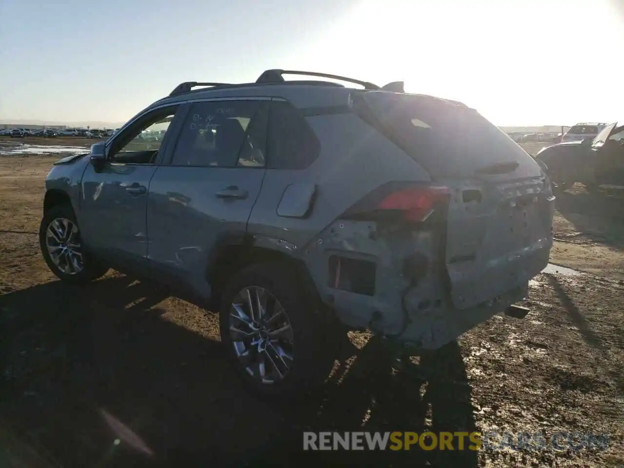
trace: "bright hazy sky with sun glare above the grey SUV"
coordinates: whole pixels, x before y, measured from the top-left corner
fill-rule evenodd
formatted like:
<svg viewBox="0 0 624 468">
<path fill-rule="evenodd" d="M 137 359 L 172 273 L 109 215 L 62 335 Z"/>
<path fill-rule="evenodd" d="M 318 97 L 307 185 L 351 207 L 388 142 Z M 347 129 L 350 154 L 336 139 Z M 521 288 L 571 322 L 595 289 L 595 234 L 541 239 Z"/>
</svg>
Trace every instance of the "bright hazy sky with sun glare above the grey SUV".
<svg viewBox="0 0 624 468">
<path fill-rule="evenodd" d="M 179 82 L 324 71 L 497 125 L 624 118 L 624 0 L 0 0 L 0 119 L 124 122 Z"/>
</svg>

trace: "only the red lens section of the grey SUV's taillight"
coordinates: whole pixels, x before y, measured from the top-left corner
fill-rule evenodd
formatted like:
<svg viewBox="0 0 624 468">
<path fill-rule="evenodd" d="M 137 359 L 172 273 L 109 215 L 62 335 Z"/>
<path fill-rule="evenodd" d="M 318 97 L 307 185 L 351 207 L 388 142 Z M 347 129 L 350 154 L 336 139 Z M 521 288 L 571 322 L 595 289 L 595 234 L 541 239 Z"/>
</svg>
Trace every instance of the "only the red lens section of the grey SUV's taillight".
<svg viewBox="0 0 624 468">
<path fill-rule="evenodd" d="M 407 187 L 389 193 L 379 202 L 379 210 L 399 210 L 409 222 L 422 222 L 437 207 L 448 203 L 451 190 L 447 187 Z"/>
</svg>

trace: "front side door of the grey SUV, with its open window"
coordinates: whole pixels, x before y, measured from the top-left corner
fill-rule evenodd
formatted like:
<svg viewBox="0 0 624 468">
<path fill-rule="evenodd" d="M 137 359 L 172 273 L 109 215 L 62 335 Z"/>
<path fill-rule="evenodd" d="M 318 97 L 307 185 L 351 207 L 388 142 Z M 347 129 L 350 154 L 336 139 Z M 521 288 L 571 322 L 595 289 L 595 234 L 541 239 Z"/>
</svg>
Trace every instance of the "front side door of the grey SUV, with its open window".
<svg viewBox="0 0 624 468">
<path fill-rule="evenodd" d="M 104 168 L 97 172 L 89 164 L 82 176 L 80 229 L 87 246 L 112 264 L 145 261 L 147 193 L 167 152 L 176 109 L 152 110 L 134 119 L 106 145 Z"/>
</svg>

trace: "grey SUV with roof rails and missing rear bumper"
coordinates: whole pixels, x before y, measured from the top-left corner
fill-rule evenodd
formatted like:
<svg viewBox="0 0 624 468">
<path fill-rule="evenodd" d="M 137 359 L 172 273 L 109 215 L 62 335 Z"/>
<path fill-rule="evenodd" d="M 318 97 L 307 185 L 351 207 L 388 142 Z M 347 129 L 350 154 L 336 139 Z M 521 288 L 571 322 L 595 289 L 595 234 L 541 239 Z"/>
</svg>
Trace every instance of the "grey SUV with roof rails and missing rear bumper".
<svg viewBox="0 0 624 468">
<path fill-rule="evenodd" d="M 246 382 L 296 393 L 326 376 L 337 331 L 435 349 L 524 298 L 553 200 L 460 102 L 269 70 L 182 83 L 56 162 L 40 242 L 62 280 L 115 268 L 218 310 Z"/>
</svg>

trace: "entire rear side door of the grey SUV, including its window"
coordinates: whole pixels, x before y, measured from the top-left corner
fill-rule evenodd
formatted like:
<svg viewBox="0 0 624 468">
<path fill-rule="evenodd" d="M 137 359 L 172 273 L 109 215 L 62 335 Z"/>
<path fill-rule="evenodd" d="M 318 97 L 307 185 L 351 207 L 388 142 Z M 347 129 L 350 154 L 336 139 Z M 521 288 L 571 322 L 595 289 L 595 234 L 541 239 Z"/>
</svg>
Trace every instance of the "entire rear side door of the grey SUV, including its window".
<svg viewBox="0 0 624 468">
<path fill-rule="evenodd" d="M 167 165 L 150 183 L 150 264 L 207 297 L 210 255 L 245 235 L 265 175 L 270 100 L 190 105 Z"/>
</svg>

